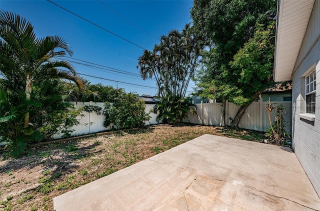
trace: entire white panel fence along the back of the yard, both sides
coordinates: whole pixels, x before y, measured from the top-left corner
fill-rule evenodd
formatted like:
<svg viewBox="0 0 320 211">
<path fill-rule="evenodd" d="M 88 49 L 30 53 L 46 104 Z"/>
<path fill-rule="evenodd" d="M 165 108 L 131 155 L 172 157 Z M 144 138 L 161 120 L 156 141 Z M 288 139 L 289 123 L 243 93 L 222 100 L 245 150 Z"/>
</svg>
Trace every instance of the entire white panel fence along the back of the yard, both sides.
<svg viewBox="0 0 320 211">
<path fill-rule="evenodd" d="M 103 109 L 103 102 L 72 102 L 75 107 L 84 107 L 85 105 L 96 105 Z M 253 102 L 244 112 L 242 118 L 239 122 L 239 127 L 244 129 L 253 129 L 258 131 L 265 131 L 269 127 L 269 118 L 268 112 L 265 109 L 268 102 L 260 100 L 259 102 Z M 285 108 L 286 115 L 284 116 L 285 121 L 288 121 L 289 124 L 291 122 L 291 101 L 277 101 L 271 102 L 276 104 L 282 104 Z M 196 113 L 197 115 L 192 115 L 188 113 L 184 122 L 190 122 L 195 124 L 203 124 L 203 125 L 219 125 L 220 124 L 220 112 L 221 112 L 221 103 L 199 103 L 196 105 Z M 150 109 L 153 109 L 154 104 L 145 104 L 145 112 L 148 113 Z M 239 109 L 239 106 L 235 104 L 226 102 L 225 109 L 225 124 L 230 125 L 231 120 L 229 117 L 233 118 Z M 79 124 L 73 126 L 72 135 L 81 135 L 99 132 L 103 130 L 108 130 L 110 127 L 104 127 L 104 115 L 102 112 L 100 115 L 95 112 L 86 112 L 83 111 L 82 114 L 84 116 L 78 116 Z M 274 119 L 274 111 L 271 116 Z M 145 125 L 150 124 L 158 124 L 161 122 L 156 121 L 156 113 L 151 112 L 149 114 L 151 116 L 150 120 L 145 122 Z M 291 133 L 291 126 L 287 126 L 287 131 Z M 53 138 L 60 138 L 61 134 L 56 134 Z"/>
</svg>

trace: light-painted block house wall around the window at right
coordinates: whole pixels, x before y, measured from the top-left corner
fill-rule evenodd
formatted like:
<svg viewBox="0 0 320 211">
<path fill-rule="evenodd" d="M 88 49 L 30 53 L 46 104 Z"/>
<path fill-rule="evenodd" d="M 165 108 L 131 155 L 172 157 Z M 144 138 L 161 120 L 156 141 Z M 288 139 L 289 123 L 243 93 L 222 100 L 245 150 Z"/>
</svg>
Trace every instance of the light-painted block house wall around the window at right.
<svg viewBox="0 0 320 211">
<path fill-rule="evenodd" d="M 292 73 L 292 148 L 320 195 L 320 0 L 315 0 Z M 316 72 L 314 121 L 305 113 L 305 79 Z"/>
</svg>

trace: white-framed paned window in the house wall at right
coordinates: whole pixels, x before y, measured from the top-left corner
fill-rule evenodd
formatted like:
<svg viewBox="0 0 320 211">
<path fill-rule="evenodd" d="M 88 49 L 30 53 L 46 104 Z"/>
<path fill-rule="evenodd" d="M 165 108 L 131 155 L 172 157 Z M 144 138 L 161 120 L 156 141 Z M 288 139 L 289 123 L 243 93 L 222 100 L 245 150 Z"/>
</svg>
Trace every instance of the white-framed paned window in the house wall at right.
<svg viewBox="0 0 320 211">
<path fill-rule="evenodd" d="M 315 70 L 305 76 L 306 112 L 315 113 Z"/>
</svg>

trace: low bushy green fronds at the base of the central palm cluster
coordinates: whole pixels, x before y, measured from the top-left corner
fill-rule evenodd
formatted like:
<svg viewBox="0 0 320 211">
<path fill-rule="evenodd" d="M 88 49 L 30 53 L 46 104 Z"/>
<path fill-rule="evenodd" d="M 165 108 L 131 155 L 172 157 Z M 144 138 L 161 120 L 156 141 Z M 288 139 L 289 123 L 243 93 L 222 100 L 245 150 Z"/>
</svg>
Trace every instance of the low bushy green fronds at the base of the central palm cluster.
<svg viewBox="0 0 320 211">
<path fill-rule="evenodd" d="M 191 98 L 182 98 L 173 94 L 162 97 L 155 104 L 154 113 L 159 112 L 157 120 L 163 119 L 163 122 L 177 124 L 187 116 L 188 112 L 196 114 L 195 106 L 191 103 Z"/>
</svg>

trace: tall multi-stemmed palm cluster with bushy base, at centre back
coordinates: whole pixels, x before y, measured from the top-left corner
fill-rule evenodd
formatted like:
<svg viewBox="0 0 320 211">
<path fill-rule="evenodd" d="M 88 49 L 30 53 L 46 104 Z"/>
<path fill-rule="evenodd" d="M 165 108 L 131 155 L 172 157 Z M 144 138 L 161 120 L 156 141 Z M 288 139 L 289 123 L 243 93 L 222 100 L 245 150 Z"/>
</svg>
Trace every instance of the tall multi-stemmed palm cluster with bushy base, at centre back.
<svg viewBox="0 0 320 211">
<path fill-rule="evenodd" d="M 181 32 L 171 30 L 161 36 L 152 51 L 144 50 L 138 58 L 142 78 L 156 79 L 161 101 L 154 111 L 159 111 L 158 118 L 164 122 L 176 124 L 188 111 L 194 113 L 190 99 L 184 97 L 201 60 L 202 46 L 201 39 L 186 24 Z"/>
</svg>

